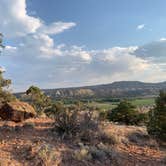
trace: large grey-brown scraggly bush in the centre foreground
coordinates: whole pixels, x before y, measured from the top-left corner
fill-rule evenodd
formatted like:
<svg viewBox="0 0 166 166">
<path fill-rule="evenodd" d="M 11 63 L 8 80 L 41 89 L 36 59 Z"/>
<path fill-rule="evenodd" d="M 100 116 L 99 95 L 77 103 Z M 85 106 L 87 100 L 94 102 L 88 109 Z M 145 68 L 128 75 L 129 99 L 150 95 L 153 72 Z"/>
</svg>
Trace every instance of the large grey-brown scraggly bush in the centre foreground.
<svg viewBox="0 0 166 166">
<path fill-rule="evenodd" d="M 98 121 L 93 111 L 80 111 L 77 105 L 57 109 L 54 114 L 54 130 L 62 138 L 76 137 L 85 142 L 93 141 L 98 132 Z"/>
</svg>

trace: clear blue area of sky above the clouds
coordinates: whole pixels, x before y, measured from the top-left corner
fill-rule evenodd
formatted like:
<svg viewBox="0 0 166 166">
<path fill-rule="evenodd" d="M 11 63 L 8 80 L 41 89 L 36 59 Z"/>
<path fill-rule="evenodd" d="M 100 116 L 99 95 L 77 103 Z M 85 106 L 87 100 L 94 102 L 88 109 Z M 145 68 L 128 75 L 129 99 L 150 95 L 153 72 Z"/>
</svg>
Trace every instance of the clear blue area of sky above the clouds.
<svg viewBox="0 0 166 166">
<path fill-rule="evenodd" d="M 28 1 L 27 1 L 28 2 Z M 58 42 L 90 49 L 143 45 L 166 35 L 164 0 L 31 0 L 29 12 L 46 23 L 76 22 L 77 27 L 56 36 Z M 139 24 L 145 29 L 137 31 Z"/>
</svg>

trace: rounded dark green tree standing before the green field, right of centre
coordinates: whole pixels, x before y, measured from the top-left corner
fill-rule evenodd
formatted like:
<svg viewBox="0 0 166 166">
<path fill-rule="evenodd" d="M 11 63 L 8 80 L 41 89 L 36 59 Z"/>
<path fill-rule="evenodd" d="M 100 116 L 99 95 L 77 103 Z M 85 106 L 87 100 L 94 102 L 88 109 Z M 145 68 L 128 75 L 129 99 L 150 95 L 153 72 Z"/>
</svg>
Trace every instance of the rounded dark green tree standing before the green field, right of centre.
<svg viewBox="0 0 166 166">
<path fill-rule="evenodd" d="M 138 111 L 134 105 L 124 100 L 109 113 L 109 119 L 113 122 L 135 125 L 138 123 Z"/>
</svg>

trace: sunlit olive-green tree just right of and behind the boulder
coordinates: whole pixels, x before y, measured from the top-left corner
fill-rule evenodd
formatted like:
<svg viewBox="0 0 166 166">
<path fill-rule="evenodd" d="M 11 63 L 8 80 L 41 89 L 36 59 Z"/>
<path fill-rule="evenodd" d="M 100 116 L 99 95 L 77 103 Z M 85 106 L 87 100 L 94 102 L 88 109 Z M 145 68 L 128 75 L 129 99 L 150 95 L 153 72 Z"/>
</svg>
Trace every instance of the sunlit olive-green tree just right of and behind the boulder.
<svg viewBox="0 0 166 166">
<path fill-rule="evenodd" d="M 37 113 L 42 114 L 51 104 L 50 97 L 46 96 L 38 87 L 31 86 L 27 91 L 29 102 L 34 106 Z"/>
</svg>

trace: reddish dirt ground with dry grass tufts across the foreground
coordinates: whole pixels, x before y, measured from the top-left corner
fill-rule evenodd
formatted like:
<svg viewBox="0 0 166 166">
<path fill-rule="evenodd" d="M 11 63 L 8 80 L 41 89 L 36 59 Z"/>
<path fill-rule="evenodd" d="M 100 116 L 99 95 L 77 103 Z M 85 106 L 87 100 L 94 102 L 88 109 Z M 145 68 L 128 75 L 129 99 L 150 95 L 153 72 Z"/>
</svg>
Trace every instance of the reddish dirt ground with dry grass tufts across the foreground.
<svg viewBox="0 0 166 166">
<path fill-rule="evenodd" d="M 109 160 L 75 159 L 78 142 L 61 140 L 52 134 L 53 121 L 29 119 L 24 123 L 0 121 L 0 166 L 164 166 L 166 148 L 146 134 L 143 127 L 105 124 L 105 131 L 118 139 Z M 112 162 L 114 158 L 117 162 Z"/>
</svg>

